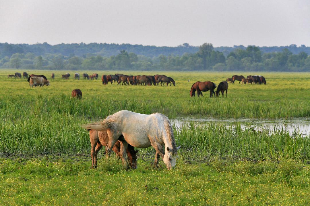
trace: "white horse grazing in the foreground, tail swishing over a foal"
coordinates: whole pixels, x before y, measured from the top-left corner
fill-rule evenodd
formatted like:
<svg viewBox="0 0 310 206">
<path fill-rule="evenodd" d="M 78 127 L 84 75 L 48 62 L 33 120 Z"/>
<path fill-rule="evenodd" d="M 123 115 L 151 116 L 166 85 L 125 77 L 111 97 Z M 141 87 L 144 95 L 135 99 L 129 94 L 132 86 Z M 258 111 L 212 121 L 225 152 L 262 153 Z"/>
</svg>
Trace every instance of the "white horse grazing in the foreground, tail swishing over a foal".
<svg viewBox="0 0 310 206">
<path fill-rule="evenodd" d="M 110 155 L 117 140 L 121 141 L 120 157 L 126 168 L 129 168 L 126 157 L 128 144 L 137 148 L 152 146 L 156 150 L 154 167 L 162 157 L 168 170 L 175 167 L 177 150 L 173 130 L 169 119 L 160 113 L 140 114 L 122 110 L 108 116 L 100 122 L 84 126 L 86 129 L 107 130 L 109 141 L 106 146 L 106 155 Z M 124 138 L 119 139 L 123 135 Z M 165 151 L 162 146 L 165 145 Z"/>
</svg>

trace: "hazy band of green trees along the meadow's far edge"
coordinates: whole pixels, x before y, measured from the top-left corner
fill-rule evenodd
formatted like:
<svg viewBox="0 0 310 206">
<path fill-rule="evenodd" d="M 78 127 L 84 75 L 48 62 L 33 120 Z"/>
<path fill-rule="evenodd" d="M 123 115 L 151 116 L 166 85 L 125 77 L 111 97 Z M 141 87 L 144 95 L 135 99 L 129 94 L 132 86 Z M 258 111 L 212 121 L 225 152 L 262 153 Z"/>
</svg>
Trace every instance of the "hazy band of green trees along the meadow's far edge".
<svg viewBox="0 0 310 206">
<path fill-rule="evenodd" d="M 90 49 L 89 45 L 85 44 L 84 46 Z M 101 44 L 94 43 L 94 45 Z M 40 52 L 34 48 L 33 52 L 25 52 L 24 48 L 18 47 L 18 45 L 7 44 L 7 46 L 11 47 L 11 50 L 3 50 L 2 48 L 0 67 L 22 70 L 310 71 L 310 56 L 306 52 L 294 54 L 288 48 L 283 48 L 280 52 L 263 53 L 256 46 L 248 46 L 246 48 L 239 46 L 227 53 L 227 49 L 225 51 L 218 51 L 213 48 L 211 43 L 204 43 L 197 48 L 196 52 L 182 53 L 181 48 L 183 47 L 189 50 L 195 48 L 185 43 L 182 46 L 175 47 L 175 50 L 173 50 L 182 54 L 173 54 L 172 52 L 172 54 L 160 54 L 150 57 L 125 49 L 118 50 L 117 54 L 111 56 L 91 53 L 91 51 L 82 56 L 75 55 L 71 53 L 72 51 L 68 52 L 70 53 L 69 55 L 62 53 L 38 55 Z M 48 44 L 46 46 L 47 48 L 54 47 Z M 40 48 L 38 47 L 39 50 Z M 156 50 L 156 48 L 154 49 Z M 179 50 L 176 48 L 179 48 Z M 3 51 L 5 52 L 3 53 Z M 11 54 L 9 51 L 17 52 Z"/>
</svg>

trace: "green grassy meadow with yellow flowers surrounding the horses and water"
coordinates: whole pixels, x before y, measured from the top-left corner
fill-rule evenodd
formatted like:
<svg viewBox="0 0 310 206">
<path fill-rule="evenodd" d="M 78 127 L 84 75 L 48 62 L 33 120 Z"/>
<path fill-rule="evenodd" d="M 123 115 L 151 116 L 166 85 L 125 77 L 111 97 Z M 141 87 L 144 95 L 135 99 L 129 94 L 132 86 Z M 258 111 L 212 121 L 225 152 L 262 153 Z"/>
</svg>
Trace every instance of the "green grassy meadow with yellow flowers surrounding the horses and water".
<svg viewBox="0 0 310 206">
<path fill-rule="evenodd" d="M 159 169 L 151 167 L 154 149 L 148 148 L 139 149 L 138 169 L 126 171 L 102 151 L 98 168 L 90 169 L 89 136 L 80 126 L 122 109 L 170 119 L 309 117 L 310 73 L 259 73 L 267 85 L 236 82 L 229 84 L 227 98 L 210 98 L 209 92 L 191 98 L 198 80 L 218 85 L 234 74 L 255 73 L 122 72 L 165 74 L 176 84 L 145 87 L 74 80 L 73 71 L 69 80 L 61 79 L 62 71 L 27 71 L 48 79 L 55 73 L 50 86 L 30 88 L 25 79 L 7 78 L 15 72 L 0 70 L 1 205 L 310 204 L 310 138 L 298 130 L 193 122 L 174 128 L 181 145 L 175 170 L 167 171 L 162 161 Z M 94 72 L 117 73 L 87 71 Z M 82 90 L 82 100 L 71 98 L 73 89 Z"/>
</svg>

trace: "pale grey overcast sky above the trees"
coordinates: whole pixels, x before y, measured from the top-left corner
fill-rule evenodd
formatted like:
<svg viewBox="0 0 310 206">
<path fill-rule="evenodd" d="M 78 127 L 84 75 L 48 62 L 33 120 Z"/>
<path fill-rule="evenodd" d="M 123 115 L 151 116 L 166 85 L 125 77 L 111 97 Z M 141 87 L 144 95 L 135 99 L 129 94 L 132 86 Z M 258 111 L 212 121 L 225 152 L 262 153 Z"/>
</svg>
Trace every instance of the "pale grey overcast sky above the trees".
<svg viewBox="0 0 310 206">
<path fill-rule="evenodd" d="M 0 42 L 310 46 L 310 1 L 0 0 Z"/>
</svg>

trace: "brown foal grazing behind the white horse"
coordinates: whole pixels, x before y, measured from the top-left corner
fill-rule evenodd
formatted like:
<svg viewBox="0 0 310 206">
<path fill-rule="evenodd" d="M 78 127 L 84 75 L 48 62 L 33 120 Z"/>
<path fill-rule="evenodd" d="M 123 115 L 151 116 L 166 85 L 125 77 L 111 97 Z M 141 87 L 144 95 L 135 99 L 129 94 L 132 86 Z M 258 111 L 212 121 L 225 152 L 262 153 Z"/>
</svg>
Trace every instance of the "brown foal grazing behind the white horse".
<svg viewBox="0 0 310 206">
<path fill-rule="evenodd" d="M 89 130 L 89 138 L 91 140 L 91 167 L 97 167 L 97 154 L 102 146 L 107 146 L 109 137 L 107 130 L 104 131 L 97 131 L 97 130 Z M 120 138 L 124 139 L 123 135 Z M 117 156 L 120 156 L 121 144 L 117 141 L 113 146 L 113 151 L 116 153 Z M 137 168 L 137 153 L 139 150 L 135 150 L 133 146 L 128 144 L 127 147 L 127 159 L 129 161 L 129 166 L 132 169 Z"/>
</svg>

